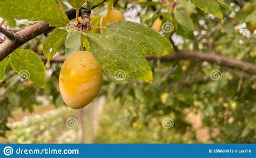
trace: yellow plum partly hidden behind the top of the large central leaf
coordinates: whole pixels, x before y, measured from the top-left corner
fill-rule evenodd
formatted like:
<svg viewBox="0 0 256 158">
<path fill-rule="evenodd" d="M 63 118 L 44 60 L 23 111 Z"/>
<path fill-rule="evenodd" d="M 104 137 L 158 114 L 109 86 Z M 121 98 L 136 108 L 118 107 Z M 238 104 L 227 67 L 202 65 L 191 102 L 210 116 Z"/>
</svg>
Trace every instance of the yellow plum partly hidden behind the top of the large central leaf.
<svg viewBox="0 0 256 158">
<path fill-rule="evenodd" d="M 107 15 L 105 17 L 102 17 L 102 19 L 100 19 L 99 26 L 105 27 L 105 26 L 109 25 L 110 23 L 119 22 L 122 20 L 124 20 L 124 15 L 122 12 L 120 12 L 119 10 L 110 9 L 107 12 Z M 106 32 L 106 29 L 100 29 L 100 33 L 105 33 L 105 32 Z"/>
</svg>

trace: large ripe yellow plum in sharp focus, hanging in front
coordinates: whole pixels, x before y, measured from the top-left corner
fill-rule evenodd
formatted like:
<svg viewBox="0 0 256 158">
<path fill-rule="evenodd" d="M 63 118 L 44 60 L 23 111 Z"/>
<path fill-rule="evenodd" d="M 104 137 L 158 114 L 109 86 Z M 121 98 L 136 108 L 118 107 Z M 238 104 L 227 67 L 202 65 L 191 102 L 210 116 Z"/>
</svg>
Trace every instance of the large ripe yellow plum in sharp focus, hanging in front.
<svg viewBox="0 0 256 158">
<path fill-rule="evenodd" d="M 102 87 L 102 66 L 91 52 L 71 53 L 59 75 L 59 90 L 66 105 L 80 109 L 98 95 Z"/>
</svg>

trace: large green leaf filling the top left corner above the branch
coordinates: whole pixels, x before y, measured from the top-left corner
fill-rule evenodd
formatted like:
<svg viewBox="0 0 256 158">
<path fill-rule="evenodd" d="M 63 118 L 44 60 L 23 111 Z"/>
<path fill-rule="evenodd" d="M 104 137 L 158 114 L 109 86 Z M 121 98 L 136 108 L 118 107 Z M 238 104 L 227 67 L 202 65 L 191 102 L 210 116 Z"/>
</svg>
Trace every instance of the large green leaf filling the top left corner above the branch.
<svg viewBox="0 0 256 158">
<path fill-rule="evenodd" d="M 0 15 L 6 19 L 45 20 L 55 27 L 69 22 L 56 0 L 0 1 Z"/>
</svg>

